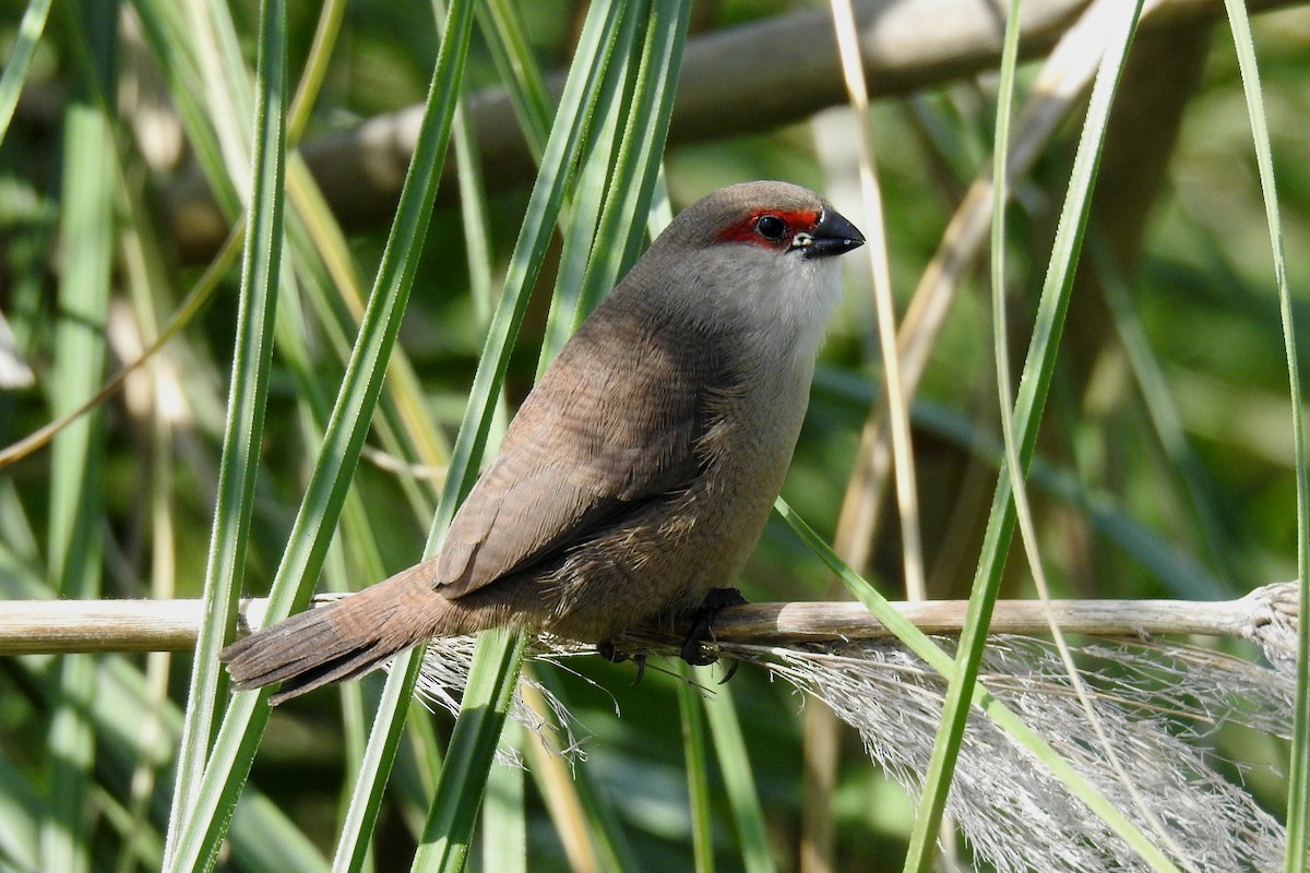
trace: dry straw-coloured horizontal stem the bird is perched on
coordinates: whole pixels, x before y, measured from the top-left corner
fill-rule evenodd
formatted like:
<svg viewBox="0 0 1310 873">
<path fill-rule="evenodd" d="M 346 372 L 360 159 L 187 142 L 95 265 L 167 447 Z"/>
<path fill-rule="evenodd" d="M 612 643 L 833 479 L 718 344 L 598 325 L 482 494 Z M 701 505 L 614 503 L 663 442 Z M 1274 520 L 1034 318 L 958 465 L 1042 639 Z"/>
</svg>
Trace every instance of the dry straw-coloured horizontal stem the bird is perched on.
<svg viewBox="0 0 1310 873">
<path fill-rule="evenodd" d="M 320 596 L 326 603 L 334 596 Z M 967 601 L 897 603 L 926 633 L 956 633 Z M 241 603 L 242 630 L 263 624 L 267 601 Z M 68 652 L 181 652 L 195 645 L 204 605 L 174 601 L 7 601 L 0 603 L 0 654 Z M 1258 643 L 1271 661 L 1296 656 L 1297 585 L 1258 588 L 1234 601 L 1052 601 L 1068 633 L 1095 636 L 1204 635 Z M 1043 633 L 1049 628 L 1038 601 L 1000 601 L 994 633 Z M 719 613 L 715 639 L 768 645 L 891 636 L 862 605 L 853 602 L 751 603 Z M 659 641 L 658 633 L 634 633 Z M 671 647 L 676 649 L 676 645 Z"/>
</svg>

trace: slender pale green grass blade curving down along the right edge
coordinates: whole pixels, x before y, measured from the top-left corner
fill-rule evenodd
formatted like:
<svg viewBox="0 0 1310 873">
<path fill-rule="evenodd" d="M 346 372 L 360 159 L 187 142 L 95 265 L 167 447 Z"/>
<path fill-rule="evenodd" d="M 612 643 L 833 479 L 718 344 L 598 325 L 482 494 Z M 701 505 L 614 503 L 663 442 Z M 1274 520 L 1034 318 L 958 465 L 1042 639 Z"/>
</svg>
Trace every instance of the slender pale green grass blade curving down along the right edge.
<svg viewBox="0 0 1310 873">
<path fill-rule="evenodd" d="M 1292 291 L 1288 285 L 1288 262 L 1282 245 L 1282 219 L 1279 211 L 1279 191 L 1273 175 L 1273 149 L 1269 126 L 1260 93 L 1260 71 L 1255 59 L 1255 39 L 1246 7 L 1225 0 L 1233 42 L 1237 47 L 1238 67 L 1242 71 L 1242 89 L 1251 119 L 1251 137 L 1255 144 L 1255 164 L 1260 173 L 1260 192 L 1264 196 L 1264 216 L 1269 225 L 1269 246 L 1273 255 L 1273 277 L 1279 287 L 1279 315 L 1282 319 L 1284 353 L 1288 360 L 1288 387 L 1292 395 L 1292 436 L 1296 446 L 1297 483 L 1297 579 L 1301 580 L 1298 607 L 1301 615 L 1310 615 L 1310 471 L 1306 458 L 1305 403 L 1301 393 L 1301 373 L 1297 365 L 1296 321 L 1292 312 Z M 1293 709 L 1292 757 L 1288 776 L 1288 849 L 1284 856 L 1286 873 L 1303 872 L 1310 865 L 1310 627 L 1302 624 L 1297 632 L 1297 699 Z"/>
</svg>

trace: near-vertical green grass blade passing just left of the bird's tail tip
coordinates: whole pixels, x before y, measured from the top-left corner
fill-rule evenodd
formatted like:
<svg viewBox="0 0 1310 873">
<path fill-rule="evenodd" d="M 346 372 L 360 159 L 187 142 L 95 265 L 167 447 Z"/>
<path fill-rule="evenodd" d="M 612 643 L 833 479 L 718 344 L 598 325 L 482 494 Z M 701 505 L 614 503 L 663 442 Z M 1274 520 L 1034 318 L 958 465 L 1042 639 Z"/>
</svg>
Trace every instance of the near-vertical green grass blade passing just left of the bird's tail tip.
<svg viewBox="0 0 1310 873">
<path fill-rule="evenodd" d="M 250 538 L 250 509 L 269 394 L 284 236 L 286 38 L 286 8 L 280 0 L 270 0 L 262 7 L 259 24 L 250 209 L 241 266 L 237 348 L 233 355 L 217 505 L 204 577 L 208 609 L 196 641 L 182 726 L 173 814 L 169 817 L 165 844 L 166 863 L 177 857 L 183 811 L 195 806 L 200 793 L 200 777 L 219 711 L 219 649 L 234 626 L 236 601 L 241 594 Z"/>
</svg>

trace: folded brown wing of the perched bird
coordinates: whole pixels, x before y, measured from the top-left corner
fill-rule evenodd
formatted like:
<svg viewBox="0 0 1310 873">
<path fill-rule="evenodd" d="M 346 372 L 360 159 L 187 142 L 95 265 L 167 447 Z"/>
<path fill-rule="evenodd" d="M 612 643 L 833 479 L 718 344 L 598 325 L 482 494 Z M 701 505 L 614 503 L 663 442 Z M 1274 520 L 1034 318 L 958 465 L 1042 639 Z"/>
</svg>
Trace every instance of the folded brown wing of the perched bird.
<svg viewBox="0 0 1310 873">
<path fill-rule="evenodd" d="M 616 292 L 617 294 L 617 292 Z M 455 516 L 436 585 L 460 597 L 528 567 L 696 474 L 702 398 L 722 381 L 709 339 L 677 351 L 635 296 L 610 298 L 565 346 Z"/>
</svg>

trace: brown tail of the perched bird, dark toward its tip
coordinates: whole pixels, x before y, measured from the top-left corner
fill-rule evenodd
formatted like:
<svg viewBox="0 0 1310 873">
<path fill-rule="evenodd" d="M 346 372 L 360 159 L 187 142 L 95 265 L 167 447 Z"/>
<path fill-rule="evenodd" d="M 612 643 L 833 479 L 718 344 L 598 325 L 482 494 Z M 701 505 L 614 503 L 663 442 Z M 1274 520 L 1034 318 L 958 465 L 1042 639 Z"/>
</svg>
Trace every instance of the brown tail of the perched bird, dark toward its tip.
<svg viewBox="0 0 1310 873">
<path fill-rule="evenodd" d="M 282 682 L 269 702 L 372 670 L 443 627 L 449 601 L 430 584 L 424 564 L 329 606 L 307 610 L 223 649 L 238 691 Z"/>
</svg>

